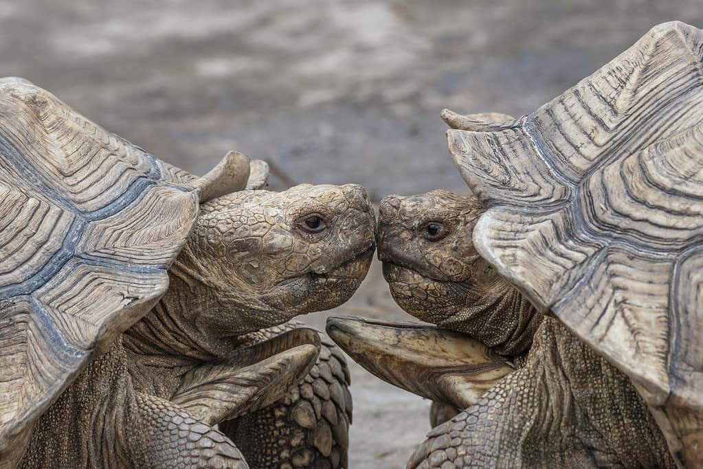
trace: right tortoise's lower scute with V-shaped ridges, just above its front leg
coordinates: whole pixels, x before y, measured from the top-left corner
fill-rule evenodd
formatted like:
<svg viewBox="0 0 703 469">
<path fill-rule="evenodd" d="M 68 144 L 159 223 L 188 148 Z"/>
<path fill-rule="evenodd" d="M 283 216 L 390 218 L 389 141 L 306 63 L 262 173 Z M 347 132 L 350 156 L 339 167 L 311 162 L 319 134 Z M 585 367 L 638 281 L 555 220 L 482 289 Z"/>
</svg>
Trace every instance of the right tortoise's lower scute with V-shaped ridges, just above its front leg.
<svg viewBox="0 0 703 469">
<path fill-rule="evenodd" d="M 610 246 L 591 266 L 579 288 L 553 311 L 567 317 L 569 329 L 626 374 L 636 363 L 633 379 L 646 390 L 645 400 L 664 404 L 671 392 L 666 356 L 671 264 Z"/>
</svg>

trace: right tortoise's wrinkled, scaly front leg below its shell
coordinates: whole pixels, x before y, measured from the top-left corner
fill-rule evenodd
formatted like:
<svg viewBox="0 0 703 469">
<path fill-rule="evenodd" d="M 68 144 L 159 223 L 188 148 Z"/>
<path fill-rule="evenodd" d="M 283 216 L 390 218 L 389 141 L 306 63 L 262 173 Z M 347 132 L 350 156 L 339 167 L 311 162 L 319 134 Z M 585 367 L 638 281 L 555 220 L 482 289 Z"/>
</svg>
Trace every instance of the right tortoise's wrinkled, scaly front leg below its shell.
<svg viewBox="0 0 703 469">
<path fill-rule="evenodd" d="M 409 469 L 676 467 L 627 376 L 552 318 L 524 367 L 427 436 Z"/>
</svg>

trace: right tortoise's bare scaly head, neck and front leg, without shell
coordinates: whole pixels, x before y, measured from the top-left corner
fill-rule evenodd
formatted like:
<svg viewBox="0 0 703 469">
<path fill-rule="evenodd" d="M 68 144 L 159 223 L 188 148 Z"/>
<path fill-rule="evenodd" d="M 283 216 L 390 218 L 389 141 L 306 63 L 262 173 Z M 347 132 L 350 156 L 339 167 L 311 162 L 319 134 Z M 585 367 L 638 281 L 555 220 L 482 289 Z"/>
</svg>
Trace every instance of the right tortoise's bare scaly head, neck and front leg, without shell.
<svg viewBox="0 0 703 469">
<path fill-rule="evenodd" d="M 408 468 L 675 467 L 628 378 L 477 254 L 472 230 L 482 211 L 443 190 L 380 206 L 379 258 L 401 308 L 467 333 L 518 368 L 432 430 Z"/>
</svg>

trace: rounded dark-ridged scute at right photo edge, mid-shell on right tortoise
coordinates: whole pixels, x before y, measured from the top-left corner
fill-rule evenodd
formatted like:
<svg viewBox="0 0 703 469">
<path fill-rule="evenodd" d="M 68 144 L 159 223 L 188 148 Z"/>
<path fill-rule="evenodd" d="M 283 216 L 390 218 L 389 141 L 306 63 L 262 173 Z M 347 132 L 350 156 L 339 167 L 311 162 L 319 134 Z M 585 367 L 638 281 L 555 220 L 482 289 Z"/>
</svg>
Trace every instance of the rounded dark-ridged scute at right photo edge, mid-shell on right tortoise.
<svg viewBox="0 0 703 469">
<path fill-rule="evenodd" d="M 703 236 L 703 126 L 596 166 L 576 206 L 583 230 L 646 250 L 682 251 Z M 640 249 L 642 249 L 640 248 Z"/>
</svg>

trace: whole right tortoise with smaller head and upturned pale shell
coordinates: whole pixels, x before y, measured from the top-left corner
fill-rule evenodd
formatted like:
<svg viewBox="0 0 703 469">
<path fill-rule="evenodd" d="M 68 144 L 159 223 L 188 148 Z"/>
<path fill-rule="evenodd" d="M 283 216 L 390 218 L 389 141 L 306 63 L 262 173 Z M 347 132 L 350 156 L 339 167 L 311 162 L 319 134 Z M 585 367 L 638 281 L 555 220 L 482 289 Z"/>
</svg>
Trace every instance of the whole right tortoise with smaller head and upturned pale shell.
<svg viewBox="0 0 703 469">
<path fill-rule="evenodd" d="M 471 194 L 385 199 L 378 252 L 399 305 L 475 352 L 433 368 L 401 338 L 437 356 L 442 331 L 328 322 L 388 381 L 468 407 L 409 468 L 702 467 L 702 55 L 665 23 L 532 114 L 443 112 Z"/>
</svg>

